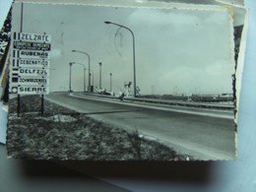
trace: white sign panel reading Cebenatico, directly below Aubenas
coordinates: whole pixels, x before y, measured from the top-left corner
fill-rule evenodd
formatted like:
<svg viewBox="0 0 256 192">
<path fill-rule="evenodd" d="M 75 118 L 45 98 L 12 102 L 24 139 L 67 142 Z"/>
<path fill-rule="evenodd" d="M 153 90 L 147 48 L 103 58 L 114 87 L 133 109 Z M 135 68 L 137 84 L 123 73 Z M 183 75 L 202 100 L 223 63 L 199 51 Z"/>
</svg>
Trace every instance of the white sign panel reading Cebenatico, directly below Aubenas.
<svg viewBox="0 0 256 192">
<path fill-rule="evenodd" d="M 13 59 L 13 67 L 49 68 L 50 61 L 46 59 Z"/>
</svg>

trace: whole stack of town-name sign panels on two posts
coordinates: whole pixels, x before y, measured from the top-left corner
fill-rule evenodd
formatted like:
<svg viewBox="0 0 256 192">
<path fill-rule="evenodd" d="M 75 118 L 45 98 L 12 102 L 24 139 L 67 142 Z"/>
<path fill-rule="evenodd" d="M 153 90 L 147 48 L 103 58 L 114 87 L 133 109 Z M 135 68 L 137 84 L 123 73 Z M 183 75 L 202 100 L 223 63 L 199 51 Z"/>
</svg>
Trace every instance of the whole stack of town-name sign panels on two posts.
<svg viewBox="0 0 256 192">
<path fill-rule="evenodd" d="M 10 93 L 18 94 L 18 97 L 42 95 L 41 113 L 43 95 L 49 94 L 50 42 L 51 36 L 45 33 L 13 33 Z"/>
</svg>

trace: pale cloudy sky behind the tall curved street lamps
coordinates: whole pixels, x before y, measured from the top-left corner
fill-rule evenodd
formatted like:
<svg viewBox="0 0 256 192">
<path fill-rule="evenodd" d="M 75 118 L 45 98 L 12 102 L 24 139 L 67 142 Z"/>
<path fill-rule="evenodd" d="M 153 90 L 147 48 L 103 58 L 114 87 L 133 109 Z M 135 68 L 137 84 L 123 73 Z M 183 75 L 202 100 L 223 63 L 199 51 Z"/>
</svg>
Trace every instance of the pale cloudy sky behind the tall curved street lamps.
<svg viewBox="0 0 256 192">
<path fill-rule="evenodd" d="M 13 32 L 20 32 L 21 4 L 13 11 Z M 96 6 L 24 5 L 23 32 L 51 35 L 50 91 L 69 90 L 69 63 L 91 56 L 94 85 L 114 92 L 132 82 L 131 32 L 106 25 L 111 21 L 135 34 L 137 86 L 148 94 L 232 93 L 228 13 L 181 9 L 114 8 Z M 86 73 L 88 85 L 88 71 Z M 132 84 L 133 87 L 133 84 Z M 72 67 L 72 90 L 84 90 L 84 70 Z M 132 89 L 133 90 L 133 89 Z"/>
</svg>

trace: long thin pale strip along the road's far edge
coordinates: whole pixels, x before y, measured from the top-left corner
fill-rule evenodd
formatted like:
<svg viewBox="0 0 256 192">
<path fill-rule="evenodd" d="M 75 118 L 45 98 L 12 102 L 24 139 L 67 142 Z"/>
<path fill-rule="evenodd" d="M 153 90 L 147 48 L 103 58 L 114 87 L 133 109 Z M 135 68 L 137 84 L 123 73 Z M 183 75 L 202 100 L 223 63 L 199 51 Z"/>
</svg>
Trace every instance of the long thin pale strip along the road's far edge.
<svg viewBox="0 0 256 192">
<path fill-rule="evenodd" d="M 225 118 L 225 119 L 233 119 L 234 118 L 233 114 L 228 114 L 228 113 L 227 114 L 215 114 L 213 112 L 197 112 L 197 111 L 188 111 L 188 110 L 184 110 L 184 109 L 164 108 L 164 107 L 160 107 L 160 106 L 149 106 L 149 105 L 143 105 L 143 104 L 139 104 L 139 103 L 113 101 L 113 100 L 105 99 L 105 98 L 100 99 L 100 98 L 96 98 L 94 96 L 84 96 L 82 94 L 80 94 L 80 96 L 76 96 L 73 93 L 69 94 L 69 96 L 91 99 L 91 100 L 99 100 L 99 101 L 111 102 L 111 103 L 117 103 L 117 104 L 123 104 L 123 105 L 139 106 L 139 107 L 143 107 L 143 108 L 151 108 L 151 109 L 164 110 L 164 111 L 181 112 L 181 113 L 186 113 L 186 114 L 196 114 L 196 115 L 219 117 L 219 118 Z"/>
</svg>

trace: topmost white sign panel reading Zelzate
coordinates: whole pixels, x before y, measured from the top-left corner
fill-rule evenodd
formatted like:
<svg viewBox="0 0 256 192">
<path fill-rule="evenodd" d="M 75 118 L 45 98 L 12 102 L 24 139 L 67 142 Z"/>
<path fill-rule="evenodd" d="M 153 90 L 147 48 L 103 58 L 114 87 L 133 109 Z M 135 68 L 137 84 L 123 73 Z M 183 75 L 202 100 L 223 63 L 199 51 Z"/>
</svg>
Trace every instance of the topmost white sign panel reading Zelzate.
<svg viewBox="0 0 256 192">
<path fill-rule="evenodd" d="M 32 41 L 32 42 L 50 42 L 49 34 L 36 34 L 27 32 L 14 32 L 14 40 Z"/>
</svg>

